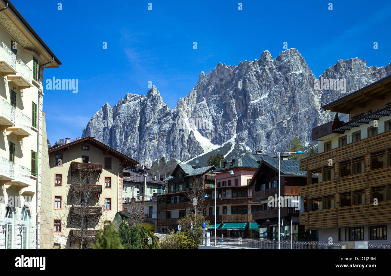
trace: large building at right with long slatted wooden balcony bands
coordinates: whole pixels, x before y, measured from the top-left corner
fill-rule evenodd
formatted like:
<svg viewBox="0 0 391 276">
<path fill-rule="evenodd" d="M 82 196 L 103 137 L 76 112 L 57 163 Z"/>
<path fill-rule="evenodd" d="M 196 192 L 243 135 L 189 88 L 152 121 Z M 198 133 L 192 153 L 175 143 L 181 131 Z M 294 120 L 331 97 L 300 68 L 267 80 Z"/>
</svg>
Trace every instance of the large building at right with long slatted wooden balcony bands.
<svg viewBox="0 0 391 276">
<path fill-rule="evenodd" d="M 300 224 L 319 241 L 391 243 L 391 76 L 323 106 L 346 113 L 312 129 L 319 153 L 300 160 Z M 330 162 L 332 161 L 332 163 Z M 319 175 L 312 183 L 311 175 Z"/>
</svg>

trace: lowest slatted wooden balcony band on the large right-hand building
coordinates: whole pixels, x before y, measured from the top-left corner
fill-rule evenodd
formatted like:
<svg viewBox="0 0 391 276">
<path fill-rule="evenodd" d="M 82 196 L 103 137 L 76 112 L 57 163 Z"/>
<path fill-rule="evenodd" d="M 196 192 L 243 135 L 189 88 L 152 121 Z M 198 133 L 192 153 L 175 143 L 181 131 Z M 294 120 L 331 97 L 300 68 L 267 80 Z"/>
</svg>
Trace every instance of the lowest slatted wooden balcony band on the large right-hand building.
<svg viewBox="0 0 391 276">
<path fill-rule="evenodd" d="M 391 223 L 391 201 L 366 203 L 300 213 L 306 230 Z"/>
</svg>

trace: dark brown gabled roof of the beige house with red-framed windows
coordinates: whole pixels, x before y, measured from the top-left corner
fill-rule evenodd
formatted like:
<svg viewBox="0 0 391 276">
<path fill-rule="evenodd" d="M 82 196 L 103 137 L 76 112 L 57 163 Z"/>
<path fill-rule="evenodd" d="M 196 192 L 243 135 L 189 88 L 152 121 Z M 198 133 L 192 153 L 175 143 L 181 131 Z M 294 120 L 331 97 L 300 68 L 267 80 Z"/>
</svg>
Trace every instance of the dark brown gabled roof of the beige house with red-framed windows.
<svg viewBox="0 0 391 276">
<path fill-rule="evenodd" d="M 63 145 L 59 145 L 57 147 L 53 146 L 51 147 L 48 152 L 49 154 L 60 151 L 60 150 L 66 150 L 68 147 L 72 147 L 74 145 L 80 144 L 80 143 L 88 143 L 90 145 L 93 145 L 94 147 L 97 147 L 98 149 L 101 149 L 102 151 L 108 151 L 109 154 L 112 156 L 118 158 L 119 160 L 124 161 L 124 167 L 134 166 L 138 164 L 138 161 L 130 158 L 129 156 L 113 149 L 112 147 L 109 147 L 108 145 L 105 145 L 102 142 L 99 142 L 95 138 L 92 138 L 91 136 L 87 136 L 78 140 L 75 140 L 73 142 L 69 142 Z"/>
</svg>

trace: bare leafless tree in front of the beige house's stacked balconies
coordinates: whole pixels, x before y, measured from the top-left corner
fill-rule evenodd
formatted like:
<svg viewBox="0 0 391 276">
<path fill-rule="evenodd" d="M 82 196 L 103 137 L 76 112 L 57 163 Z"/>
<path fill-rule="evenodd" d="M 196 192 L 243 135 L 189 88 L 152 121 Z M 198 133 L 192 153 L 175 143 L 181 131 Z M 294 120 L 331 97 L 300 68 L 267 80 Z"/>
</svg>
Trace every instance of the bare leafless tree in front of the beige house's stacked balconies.
<svg viewBox="0 0 391 276">
<path fill-rule="evenodd" d="M 98 204 L 102 185 L 97 185 L 97 181 L 98 173 L 91 170 L 73 172 L 70 176 L 63 210 L 58 211 L 63 215 L 62 227 L 70 229 L 70 246 L 75 240 L 79 241 L 79 249 L 90 246 L 96 239 L 95 231 L 91 230 L 96 230 L 99 219 L 106 215 L 104 206 Z M 62 233 L 68 235 L 66 231 Z"/>
</svg>

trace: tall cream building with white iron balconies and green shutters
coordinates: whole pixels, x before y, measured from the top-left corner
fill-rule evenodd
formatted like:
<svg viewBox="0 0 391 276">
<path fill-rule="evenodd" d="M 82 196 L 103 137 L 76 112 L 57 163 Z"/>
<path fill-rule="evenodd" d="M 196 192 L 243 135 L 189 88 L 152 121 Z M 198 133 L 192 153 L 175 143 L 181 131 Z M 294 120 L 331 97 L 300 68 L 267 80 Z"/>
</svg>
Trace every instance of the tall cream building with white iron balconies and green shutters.
<svg viewBox="0 0 391 276">
<path fill-rule="evenodd" d="M 11 2 L 0 0 L 0 10 L 0 249 L 49 249 L 43 69 L 61 62 Z"/>
</svg>

